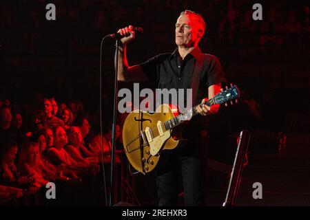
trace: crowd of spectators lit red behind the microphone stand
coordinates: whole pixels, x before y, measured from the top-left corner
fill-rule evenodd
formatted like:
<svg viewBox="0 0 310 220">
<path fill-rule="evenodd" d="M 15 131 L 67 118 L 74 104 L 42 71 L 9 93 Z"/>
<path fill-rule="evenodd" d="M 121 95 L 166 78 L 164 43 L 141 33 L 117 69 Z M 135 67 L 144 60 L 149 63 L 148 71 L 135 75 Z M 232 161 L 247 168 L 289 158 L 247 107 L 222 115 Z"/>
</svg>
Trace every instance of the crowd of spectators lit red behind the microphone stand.
<svg viewBox="0 0 310 220">
<path fill-rule="evenodd" d="M 32 195 L 50 181 L 81 184 L 83 177 L 99 173 L 102 162 L 110 164 L 111 132 L 102 136 L 102 157 L 101 134 L 94 134 L 81 102 L 67 107 L 44 98 L 40 103 L 27 119 L 9 100 L 0 102 L 1 199 Z"/>
</svg>

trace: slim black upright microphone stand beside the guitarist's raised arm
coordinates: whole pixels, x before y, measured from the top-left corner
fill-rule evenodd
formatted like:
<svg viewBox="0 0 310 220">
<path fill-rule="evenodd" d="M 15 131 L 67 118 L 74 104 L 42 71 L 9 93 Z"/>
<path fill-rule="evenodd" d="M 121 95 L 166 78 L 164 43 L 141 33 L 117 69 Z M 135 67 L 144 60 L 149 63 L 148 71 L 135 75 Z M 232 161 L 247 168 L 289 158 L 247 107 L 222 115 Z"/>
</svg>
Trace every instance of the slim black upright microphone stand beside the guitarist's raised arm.
<svg viewBox="0 0 310 220">
<path fill-rule="evenodd" d="M 113 186 L 114 186 L 114 154 L 115 154 L 115 135 L 116 135 L 116 107 L 117 107 L 117 92 L 118 92 L 118 83 L 117 83 L 117 74 L 118 74 L 118 44 L 119 40 L 115 41 L 115 76 L 114 76 L 114 105 L 113 105 L 113 122 L 112 122 L 112 152 L 111 152 L 111 179 L 110 179 L 110 206 L 113 202 Z"/>
</svg>

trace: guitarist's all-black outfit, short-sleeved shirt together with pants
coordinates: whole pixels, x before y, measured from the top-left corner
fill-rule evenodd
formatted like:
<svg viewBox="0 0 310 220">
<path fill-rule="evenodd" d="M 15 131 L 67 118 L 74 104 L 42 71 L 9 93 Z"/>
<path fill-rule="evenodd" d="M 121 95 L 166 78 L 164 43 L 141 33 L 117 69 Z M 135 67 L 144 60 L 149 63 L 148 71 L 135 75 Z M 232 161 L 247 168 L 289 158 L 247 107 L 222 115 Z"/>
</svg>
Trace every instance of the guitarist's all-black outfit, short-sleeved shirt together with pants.
<svg viewBox="0 0 310 220">
<path fill-rule="evenodd" d="M 150 58 L 141 67 L 149 80 L 157 84 L 158 89 L 192 89 L 192 107 L 208 97 L 208 87 L 225 82 L 222 67 L 216 56 L 203 54 L 196 47 L 184 60 L 176 49 L 172 54 L 159 54 Z M 178 91 L 178 100 L 182 94 Z M 156 98 L 157 100 L 157 98 Z M 176 104 L 176 100 L 169 100 Z M 172 102 L 172 103 L 171 103 Z M 163 103 L 156 103 L 158 104 Z M 159 206 L 176 206 L 178 200 L 178 174 L 183 177 L 185 206 L 204 205 L 205 166 L 207 162 L 207 117 L 196 115 L 183 129 L 183 137 L 189 141 L 173 150 L 161 152 L 156 168 L 156 186 Z M 206 132 L 205 132 L 206 133 Z"/>
</svg>

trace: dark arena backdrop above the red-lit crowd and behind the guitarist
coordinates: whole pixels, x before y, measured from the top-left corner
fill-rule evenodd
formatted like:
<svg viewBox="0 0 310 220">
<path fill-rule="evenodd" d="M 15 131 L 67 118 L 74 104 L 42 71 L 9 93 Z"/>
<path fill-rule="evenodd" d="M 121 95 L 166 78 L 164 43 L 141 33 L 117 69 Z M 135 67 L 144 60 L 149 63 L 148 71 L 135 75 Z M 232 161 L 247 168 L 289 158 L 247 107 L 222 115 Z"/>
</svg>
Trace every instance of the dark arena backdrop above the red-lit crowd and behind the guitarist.
<svg viewBox="0 0 310 220">
<path fill-rule="evenodd" d="M 48 3 L 56 5 L 56 21 L 45 19 Z M 262 4 L 262 21 L 251 19 L 254 3 Z M 128 48 L 130 65 L 141 63 L 175 49 L 174 23 L 189 9 L 207 23 L 202 50 L 218 56 L 229 82 L 242 91 L 241 104 L 255 100 L 262 115 L 258 121 L 247 107 L 221 108 L 213 119 L 214 137 L 258 128 L 309 132 L 309 1 L 23 0 L 1 1 L 0 7 L 0 100 L 23 111 L 41 94 L 59 102 L 79 99 L 95 118 L 103 98 L 104 124 L 110 127 L 114 42 L 103 45 L 101 96 L 102 37 L 130 24 L 143 27 Z M 212 152 L 218 157 L 218 148 Z M 231 163 L 227 155 L 217 159 Z"/>
</svg>

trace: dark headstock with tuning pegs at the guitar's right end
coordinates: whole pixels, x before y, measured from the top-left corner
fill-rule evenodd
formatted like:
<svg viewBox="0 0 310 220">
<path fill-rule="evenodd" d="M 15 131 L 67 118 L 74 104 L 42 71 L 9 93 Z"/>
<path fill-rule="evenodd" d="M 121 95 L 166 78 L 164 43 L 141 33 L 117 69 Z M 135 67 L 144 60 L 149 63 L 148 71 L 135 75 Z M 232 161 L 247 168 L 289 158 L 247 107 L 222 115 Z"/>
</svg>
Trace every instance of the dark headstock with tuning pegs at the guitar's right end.
<svg viewBox="0 0 310 220">
<path fill-rule="evenodd" d="M 238 100 L 237 98 L 239 98 L 240 96 L 240 92 L 239 89 L 236 85 L 230 85 L 231 87 L 225 87 L 224 89 L 220 89 L 220 93 L 216 94 L 216 96 L 214 96 L 214 104 L 223 104 L 225 103 L 225 106 L 228 105 L 228 102 L 230 102 L 230 104 L 234 104 L 234 100 L 237 103 Z"/>
</svg>

